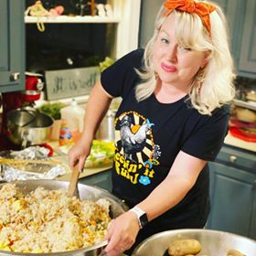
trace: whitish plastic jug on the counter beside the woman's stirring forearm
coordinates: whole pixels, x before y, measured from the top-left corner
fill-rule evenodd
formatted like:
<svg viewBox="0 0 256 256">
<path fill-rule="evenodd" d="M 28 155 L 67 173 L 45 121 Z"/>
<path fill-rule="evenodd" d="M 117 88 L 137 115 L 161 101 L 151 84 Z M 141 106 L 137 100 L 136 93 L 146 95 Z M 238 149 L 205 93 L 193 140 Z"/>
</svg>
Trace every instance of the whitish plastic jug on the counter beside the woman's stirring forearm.
<svg viewBox="0 0 256 256">
<path fill-rule="evenodd" d="M 74 99 L 68 107 L 60 109 L 61 119 L 66 120 L 71 133 L 82 132 L 84 113 Z"/>
</svg>

